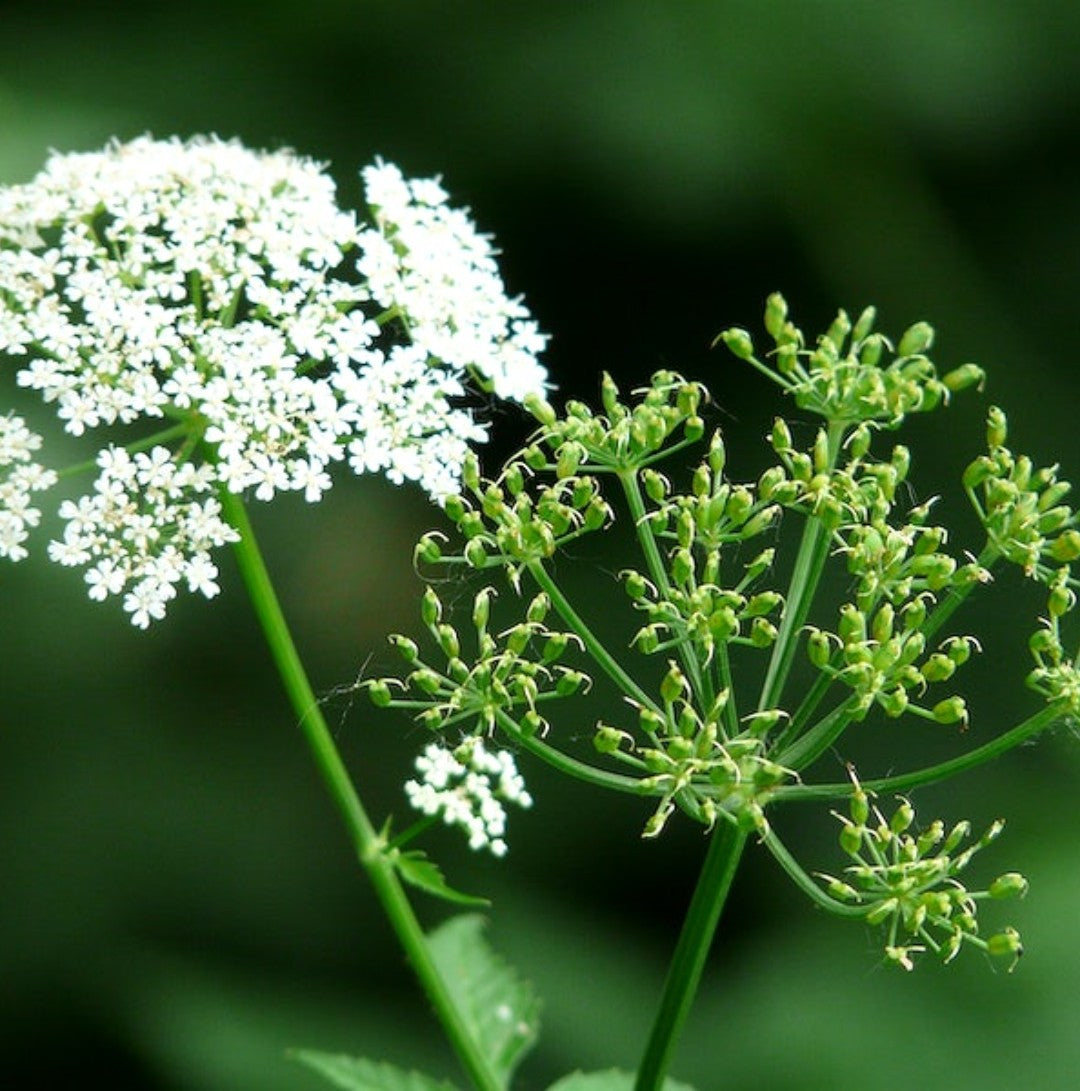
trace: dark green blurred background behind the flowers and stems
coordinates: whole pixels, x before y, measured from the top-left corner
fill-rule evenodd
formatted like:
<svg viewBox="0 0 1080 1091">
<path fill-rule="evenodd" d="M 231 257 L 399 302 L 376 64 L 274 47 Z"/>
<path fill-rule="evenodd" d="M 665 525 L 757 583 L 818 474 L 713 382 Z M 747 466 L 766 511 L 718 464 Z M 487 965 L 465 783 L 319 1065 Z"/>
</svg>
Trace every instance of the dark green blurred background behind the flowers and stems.
<svg viewBox="0 0 1080 1091">
<path fill-rule="evenodd" d="M 776 288 L 811 329 L 869 301 L 892 332 L 929 319 L 943 362 L 988 368 L 1016 443 L 1076 475 L 1078 45 L 1071 0 L 24 0 L 0 31 L 0 182 L 49 147 L 214 131 L 332 160 L 355 204 L 381 154 L 443 172 L 496 235 L 562 392 L 591 395 L 601 369 L 706 379 L 736 476 L 760 468 L 780 404 L 708 344 L 758 328 Z M 975 453 L 986 398 L 915 429 L 916 488 L 943 491 L 935 464 Z M 501 445 L 520 429 L 496 421 Z M 388 627 L 415 628 L 411 542 L 437 514 L 367 481 L 255 516 L 372 810 L 400 814 L 422 739 L 345 691 L 369 658 L 389 666 Z M 283 1059 L 293 1045 L 454 1072 L 224 560 L 227 594 L 149 634 L 40 559 L 2 573 L 3 1087 L 317 1088 Z M 567 579 L 591 589 L 616 564 L 587 554 Z M 984 614 L 972 739 L 1033 707 L 1033 626 L 1010 624 L 1037 607 L 1023 591 Z M 911 728 L 905 759 L 902 734 L 867 724 L 867 768 L 960 745 Z M 547 999 L 521 1080 L 541 1088 L 633 1066 L 703 842 L 643 846 L 635 803 L 530 783 L 505 862 L 434 843 L 452 878 L 494 894 L 492 938 Z M 700 1091 L 1076 1087 L 1078 787 L 1061 733 L 916 796 L 927 817 L 1008 816 L 986 866 L 1032 880 L 1009 907 L 1028 945 L 1012 976 L 971 956 L 875 969 L 873 937 L 753 853 L 676 1075 Z M 827 816 L 779 823 L 808 866 L 838 866 Z"/>
</svg>

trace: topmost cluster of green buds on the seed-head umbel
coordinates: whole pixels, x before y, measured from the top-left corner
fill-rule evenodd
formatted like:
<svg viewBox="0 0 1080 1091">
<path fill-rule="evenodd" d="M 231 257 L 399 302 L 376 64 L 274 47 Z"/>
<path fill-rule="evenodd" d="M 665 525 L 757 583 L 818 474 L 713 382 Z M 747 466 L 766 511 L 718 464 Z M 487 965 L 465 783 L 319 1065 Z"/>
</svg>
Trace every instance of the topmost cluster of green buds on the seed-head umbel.
<svg viewBox="0 0 1080 1091">
<path fill-rule="evenodd" d="M 983 383 L 985 375 L 973 363 L 938 376 L 926 356 L 934 331 L 925 322 L 904 331 L 893 348 L 874 331 L 876 317 L 867 307 L 852 324 L 840 311 L 816 346 L 807 348 L 802 331 L 788 320 L 783 297 L 773 293 L 765 309 L 765 328 L 776 345 L 771 367 L 754 355 L 745 329 L 725 329 L 718 340 L 783 387 L 801 409 L 835 421 L 895 428 L 908 413 L 936 409 L 952 392 Z"/>
</svg>

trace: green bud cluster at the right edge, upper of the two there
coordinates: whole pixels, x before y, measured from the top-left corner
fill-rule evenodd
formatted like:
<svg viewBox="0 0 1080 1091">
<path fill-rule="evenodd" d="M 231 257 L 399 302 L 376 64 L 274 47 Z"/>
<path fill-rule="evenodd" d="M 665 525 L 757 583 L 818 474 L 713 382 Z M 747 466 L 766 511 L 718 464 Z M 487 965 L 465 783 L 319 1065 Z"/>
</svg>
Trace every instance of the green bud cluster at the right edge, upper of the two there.
<svg viewBox="0 0 1080 1091">
<path fill-rule="evenodd" d="M 1077 515 L 1063 503 L 1072 487 L 1058 480 L 1056 466 L 1036 468 L 1027 455 L 1013 455 L 1007 439 L 1008 421 L 995 406 L 986 420 L 988 453 L 968 467 L 964 489 L 991 546 L 1027 575 L 1049 583 L 1058 565 L 1080 559 Z"/>
</svg>

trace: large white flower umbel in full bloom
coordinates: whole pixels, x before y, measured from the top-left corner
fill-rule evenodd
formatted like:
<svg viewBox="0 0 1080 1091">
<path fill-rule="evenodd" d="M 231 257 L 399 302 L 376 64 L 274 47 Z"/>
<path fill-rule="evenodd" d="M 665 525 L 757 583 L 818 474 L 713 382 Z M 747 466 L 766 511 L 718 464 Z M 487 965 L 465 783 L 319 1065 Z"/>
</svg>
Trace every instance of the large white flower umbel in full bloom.
<svg viewBox="0 0 1080 1091">
<path fill-rule="evenodd" d="M 23 361 L 19 384 L 72 435 L 142 423 L 145 448 L 156 421 L 175 441 L 128 463 L 99 444 L 94 492 L 63 505 L 50 551 L 135 624 L 180 585 L 216 590 L 209 551 L 229 532 L 205 494 L 314 502 L 347 461 L 442 499 L 485 435 L 467 379 L 543 391 L 545 338 L 468 216 L 396 167 L 364 179 L 375 226 L 319 164 L 216 137 L 53 155 L 0 188 L 0 352 Z M 0 495 L 0 554 L 25 552 L 40 487 L 24 467 Z"/>
</svg>

